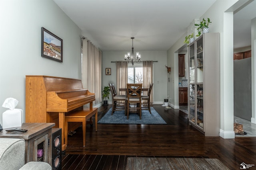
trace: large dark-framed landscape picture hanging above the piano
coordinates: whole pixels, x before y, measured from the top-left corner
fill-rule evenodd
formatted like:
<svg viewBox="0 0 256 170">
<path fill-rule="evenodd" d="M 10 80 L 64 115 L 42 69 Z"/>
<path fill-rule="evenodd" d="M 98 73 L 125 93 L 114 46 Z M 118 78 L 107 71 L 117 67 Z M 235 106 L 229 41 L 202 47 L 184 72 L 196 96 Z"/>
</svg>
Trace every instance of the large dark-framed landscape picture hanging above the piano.
<svg viewBox="0 0 256 170">
<path fill-rule="evenodd" d="M 62 63 L 63 41 L 44 27 L 41 28 L 41 56 Z"/>
</svg>

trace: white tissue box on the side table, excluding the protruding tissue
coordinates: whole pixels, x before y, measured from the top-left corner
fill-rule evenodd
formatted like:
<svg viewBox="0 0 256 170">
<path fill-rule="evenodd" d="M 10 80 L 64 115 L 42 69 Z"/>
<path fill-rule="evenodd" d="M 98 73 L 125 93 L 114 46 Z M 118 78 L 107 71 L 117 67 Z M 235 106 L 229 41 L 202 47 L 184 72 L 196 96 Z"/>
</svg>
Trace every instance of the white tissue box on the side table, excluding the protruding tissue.
<svg viewBox="0 0 256 170">
<path fill-rule="evenodd" d="M 22 109 L 6 110 L 3 113 L 3 128 L 20 127 L 22 125 L 22 114 Z"/>
</svg>

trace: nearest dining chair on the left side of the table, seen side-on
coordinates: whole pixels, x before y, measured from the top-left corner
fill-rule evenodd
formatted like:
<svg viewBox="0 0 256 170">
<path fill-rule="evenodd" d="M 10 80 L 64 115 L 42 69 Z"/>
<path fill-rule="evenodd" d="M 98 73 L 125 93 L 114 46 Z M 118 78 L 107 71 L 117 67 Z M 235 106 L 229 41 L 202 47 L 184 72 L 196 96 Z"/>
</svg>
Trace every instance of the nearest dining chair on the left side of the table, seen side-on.
<svg viewBox="0 0 256 170">
<path fill-rule="evenodd" d="M 109 83 L 111 95 L 112 95 L 112 113 L 113 115 L 114 111 L 118 110 L 124 110 L 126 111 L 126 95 L 116 95 L 116 92 L 114 90 L 114 84 Z M 118 101 L 124 102 L 124 104 L 119 104 Z"/>
</svg>

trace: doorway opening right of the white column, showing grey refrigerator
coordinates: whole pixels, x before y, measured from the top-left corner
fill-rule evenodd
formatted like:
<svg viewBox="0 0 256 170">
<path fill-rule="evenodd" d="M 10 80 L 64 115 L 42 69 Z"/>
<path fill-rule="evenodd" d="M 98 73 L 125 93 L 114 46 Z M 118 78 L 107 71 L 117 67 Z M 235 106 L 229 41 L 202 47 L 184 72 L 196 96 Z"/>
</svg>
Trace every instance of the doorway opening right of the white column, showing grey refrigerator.
<svg viewBox="0 0 256 170">
<path fill-rule="evenodd" d="M 234 55 L 234 59 L 240 59 L 234 61 L 234 122 L 243 124 L 243 129 L 247 133 L 247 135 L 235 135 L 236 137 L 256 137 L 255 113 L 252 109 L 255 107 L 252 101 L 254 98 L 252 82 L 255 81 L 255 71 L 253 71 L 255 57 L 252 56 L 251 59 L 248 59 L 247 54 L 242 53 L 253 50 L 252 48 L 255 49 L 255 44 L 252 45 L 253 41 L 251 41 L 252 38 L 255 39 L 255 36 L 252 37 L 253 30 L 253 34 L 255 34 L 255 29 L 252 29 L 255 27 L 255 22 L 253 22 L 256 17 L 255 8 L 256 2 L 249 0 L 234 11 L 234 53 L 242 54 L 240 58 L 236 58 Z M 253 63 L 251 64 L 251 62 Z"/>
</svg>

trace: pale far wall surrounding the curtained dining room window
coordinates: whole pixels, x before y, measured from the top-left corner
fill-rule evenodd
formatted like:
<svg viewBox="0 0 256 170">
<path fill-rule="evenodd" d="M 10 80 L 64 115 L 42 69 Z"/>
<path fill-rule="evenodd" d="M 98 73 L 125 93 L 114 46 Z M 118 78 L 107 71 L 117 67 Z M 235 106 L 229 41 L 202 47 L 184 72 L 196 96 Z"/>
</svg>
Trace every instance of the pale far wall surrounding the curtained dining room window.
<svg viewBox="0 0 256 170">
<path fill-rule="evenodd" d="M 168 73 L 164 65 L 167 61 L 166 51 L 139 51 L 141 54 L 142 61 L 158 61 L 153 63 L 153 97 L 154 104 L 163 104 L 164 99 L 167 98 L 167 81 Z M 127 51 L 105 51 L 103 52 L 102 61 L 102 75 L 103 75 L 103 86 L 108 86 L 108 83 L 116 84 L 116 63 L 111 61 L 123 61 L 124 54 Z M 105 75 L 105 68 L 111 68 L 111 75 Z M 172 72 L 172 71 L 171 71 Z M 159 83 L 158 83 L 159 82 Z M 108 100 L 112 102 L 111 98 Z"/>
</svg>

